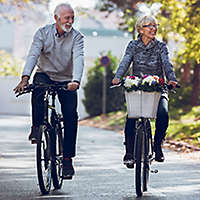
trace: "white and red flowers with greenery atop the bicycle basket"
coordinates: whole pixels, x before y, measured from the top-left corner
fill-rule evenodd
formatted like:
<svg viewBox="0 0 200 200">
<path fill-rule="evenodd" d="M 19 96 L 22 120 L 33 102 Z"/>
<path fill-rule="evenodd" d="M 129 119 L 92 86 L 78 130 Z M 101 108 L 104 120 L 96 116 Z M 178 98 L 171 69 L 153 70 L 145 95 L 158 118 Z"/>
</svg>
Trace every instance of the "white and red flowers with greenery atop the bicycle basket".
<svg viewBox="0 0 200 200">
<path fill-rule="evenodd" d="M 123 87 L 127 92 L 142 90 L 144 92 L 161 92 L 164 80 L 156 75 L 126 76 L 123 78 Z"/>
</svg>

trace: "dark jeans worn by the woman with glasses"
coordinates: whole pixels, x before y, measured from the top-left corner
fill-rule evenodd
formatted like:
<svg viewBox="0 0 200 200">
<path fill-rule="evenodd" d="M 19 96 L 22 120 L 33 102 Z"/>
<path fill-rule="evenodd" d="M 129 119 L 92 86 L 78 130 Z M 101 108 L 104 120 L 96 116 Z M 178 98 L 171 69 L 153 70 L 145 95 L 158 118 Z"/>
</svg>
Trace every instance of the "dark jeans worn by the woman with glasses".
<svg viewBox="0 0 200 200">
<path fill-rule="evenodd" d="M 125 125 L 125 143 L 129 145 L 129 153 L 133 152 L 134 136 L 135 136 L 135 121 L 134 118 L 127 118 Z M 161 97 L 158 105 L 158 112 L 156 118 L 156 131 L 154 136 L 154 145 L 161 145 L 162 140 L 165 138 L 166 130 L 168 128 L 168 100 L 166 97 Z M 131 141 L 131 142 L 130 142 Z"/>
</svg>

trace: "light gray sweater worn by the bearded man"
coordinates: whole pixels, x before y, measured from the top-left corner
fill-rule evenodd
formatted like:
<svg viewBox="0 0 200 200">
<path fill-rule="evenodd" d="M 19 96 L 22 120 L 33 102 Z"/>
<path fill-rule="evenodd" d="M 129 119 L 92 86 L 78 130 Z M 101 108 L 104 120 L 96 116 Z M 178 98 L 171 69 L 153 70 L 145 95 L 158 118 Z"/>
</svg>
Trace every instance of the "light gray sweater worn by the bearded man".
<svg viewBox="0 0 200 200">
<path fill-rule="evenodd" d="M 40 28 L 33 42 L 22 75 L 46 73 L 54 81 L 81 81 L 84 67 L 83 35 L 73 29 L 59 36 L 56 24 Z"/>
</svg>

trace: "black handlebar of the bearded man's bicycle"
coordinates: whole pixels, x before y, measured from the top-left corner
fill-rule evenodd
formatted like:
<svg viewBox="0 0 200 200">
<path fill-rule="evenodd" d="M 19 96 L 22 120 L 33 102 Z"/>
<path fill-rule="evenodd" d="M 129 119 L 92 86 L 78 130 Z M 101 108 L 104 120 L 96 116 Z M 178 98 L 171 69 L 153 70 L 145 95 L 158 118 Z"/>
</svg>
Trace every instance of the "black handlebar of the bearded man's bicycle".
<svg viewBox="0 0 200 200">
<path fill-rule="evenodd" d="M 57 91 L 57 90 L 67 90 L 67 85 L 59 85 L 59 84 L 30 84 L 24 88 L 23 92 L 19 92 L 16 97 L 19 97 L 23 94 L 27 94 L 33 92 L 37 88 L 43 88 L 48 91 Z"/>
</svg>

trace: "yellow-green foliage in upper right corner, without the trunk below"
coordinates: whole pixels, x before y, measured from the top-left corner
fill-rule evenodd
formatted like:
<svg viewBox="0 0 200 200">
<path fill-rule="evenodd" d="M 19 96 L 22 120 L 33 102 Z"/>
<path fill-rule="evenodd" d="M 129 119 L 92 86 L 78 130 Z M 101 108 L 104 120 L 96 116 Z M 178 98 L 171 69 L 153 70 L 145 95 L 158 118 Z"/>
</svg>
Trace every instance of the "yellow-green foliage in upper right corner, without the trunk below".
<svg viewBox="0 0 200 200">
<path fill-rule="evenodd" d="M 181 63 L 200 63 L 200 0 L 154 0 L 162 3 L 158 15 L 162 25 L 162 32 L 172 32 L 182 38 L 182 48 L 178 52 L 177 59 Z M 165 13 L 165 14 L 163 14 Z M 178 35 L 177 35 L 178 34 Z"/>
</svg>

